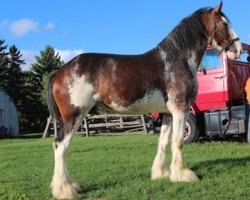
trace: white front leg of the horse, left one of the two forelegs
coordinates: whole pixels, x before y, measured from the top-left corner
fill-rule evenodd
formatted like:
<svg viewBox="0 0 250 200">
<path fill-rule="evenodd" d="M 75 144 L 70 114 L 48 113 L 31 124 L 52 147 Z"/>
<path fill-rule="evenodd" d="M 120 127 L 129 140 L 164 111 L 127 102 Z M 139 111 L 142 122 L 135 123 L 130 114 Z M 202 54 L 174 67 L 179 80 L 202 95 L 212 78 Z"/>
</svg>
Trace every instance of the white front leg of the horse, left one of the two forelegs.
<svg viewBox="0 0 250 200">
<path fill-rule="evenodd" d="M 164 114 L 162 120 L 160 138 L 158 142 L 158 150 L 151 169 L 152 179 L 169 177 L 169 171 L 165 167 L 165 159 L 166 159 L 166 149 L 171 140 L 171 133 L 172 133 L 172 117 L 168 116 L 167 114 Z"/>
</svg>

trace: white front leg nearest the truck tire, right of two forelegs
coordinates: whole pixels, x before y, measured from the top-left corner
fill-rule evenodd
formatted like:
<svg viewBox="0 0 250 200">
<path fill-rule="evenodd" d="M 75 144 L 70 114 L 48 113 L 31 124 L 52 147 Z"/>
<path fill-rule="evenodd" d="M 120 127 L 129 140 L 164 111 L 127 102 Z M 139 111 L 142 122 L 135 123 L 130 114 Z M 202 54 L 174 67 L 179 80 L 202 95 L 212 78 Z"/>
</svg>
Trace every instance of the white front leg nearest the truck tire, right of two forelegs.
<svg viewBox="0 0 250 200">
<path fill-rule="evenodd" d="M 173 136 L 172 136 L 172 162 L 171 162 L 171 181 L 196 181 L 199 180 L 197 175 L 186 168 L 183 159 L 184 127 L 188 112 L 172 112 L 173 115 Z"/>
</svg>

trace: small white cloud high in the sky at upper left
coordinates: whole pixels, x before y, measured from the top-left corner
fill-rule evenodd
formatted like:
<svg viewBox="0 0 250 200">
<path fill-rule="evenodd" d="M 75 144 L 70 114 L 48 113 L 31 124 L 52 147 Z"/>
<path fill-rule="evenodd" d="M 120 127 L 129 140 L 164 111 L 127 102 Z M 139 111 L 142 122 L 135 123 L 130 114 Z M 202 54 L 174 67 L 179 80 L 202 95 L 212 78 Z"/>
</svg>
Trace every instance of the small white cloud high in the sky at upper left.
<svg viewBox="0 0 250 200">
<path fill-rule="evenodd" d="M 9 24 L 9 30 L 15 37 L 22 37 L 29 32 L 53 30 L 54 28 L 55 24 L 53 22 L 48 22 L 45 26 L 41 26 L 38 22 L 27 18 L 19 19 Z"/>
</svg>

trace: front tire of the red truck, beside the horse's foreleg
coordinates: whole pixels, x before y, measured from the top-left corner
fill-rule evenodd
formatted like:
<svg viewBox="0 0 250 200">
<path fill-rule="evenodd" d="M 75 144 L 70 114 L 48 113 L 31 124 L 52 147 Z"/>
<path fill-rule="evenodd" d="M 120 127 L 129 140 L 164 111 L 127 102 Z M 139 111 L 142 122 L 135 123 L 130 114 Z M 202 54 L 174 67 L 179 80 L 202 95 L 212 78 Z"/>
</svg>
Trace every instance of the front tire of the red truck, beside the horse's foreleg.
<svg viewBox="0 0 250 200">
<path fill-rule="evenodd" d="M 189 114 L 184 129 L 184 143 L 195 142 L 198 138 L 198 130 L 194 115 Z"/>
</svg>

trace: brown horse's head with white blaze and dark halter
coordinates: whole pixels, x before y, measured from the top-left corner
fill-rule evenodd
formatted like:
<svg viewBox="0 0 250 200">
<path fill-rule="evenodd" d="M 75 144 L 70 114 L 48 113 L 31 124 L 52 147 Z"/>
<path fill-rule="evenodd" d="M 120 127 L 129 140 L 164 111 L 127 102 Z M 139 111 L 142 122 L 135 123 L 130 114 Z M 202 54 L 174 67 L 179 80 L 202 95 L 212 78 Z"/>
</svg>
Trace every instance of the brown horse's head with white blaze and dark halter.
<svg viewBox="0 0 250 200">
<path fill-rule="evenodd" d="M 211 9 L 207 16 L 203 16 L 209 43 L 218 51 L 226 51 L 230 59 L 239 58 L 241 42 L 235 31 L 230 26 L 229 20 L 221 11 L 222 2 Z"/>
</svg>

